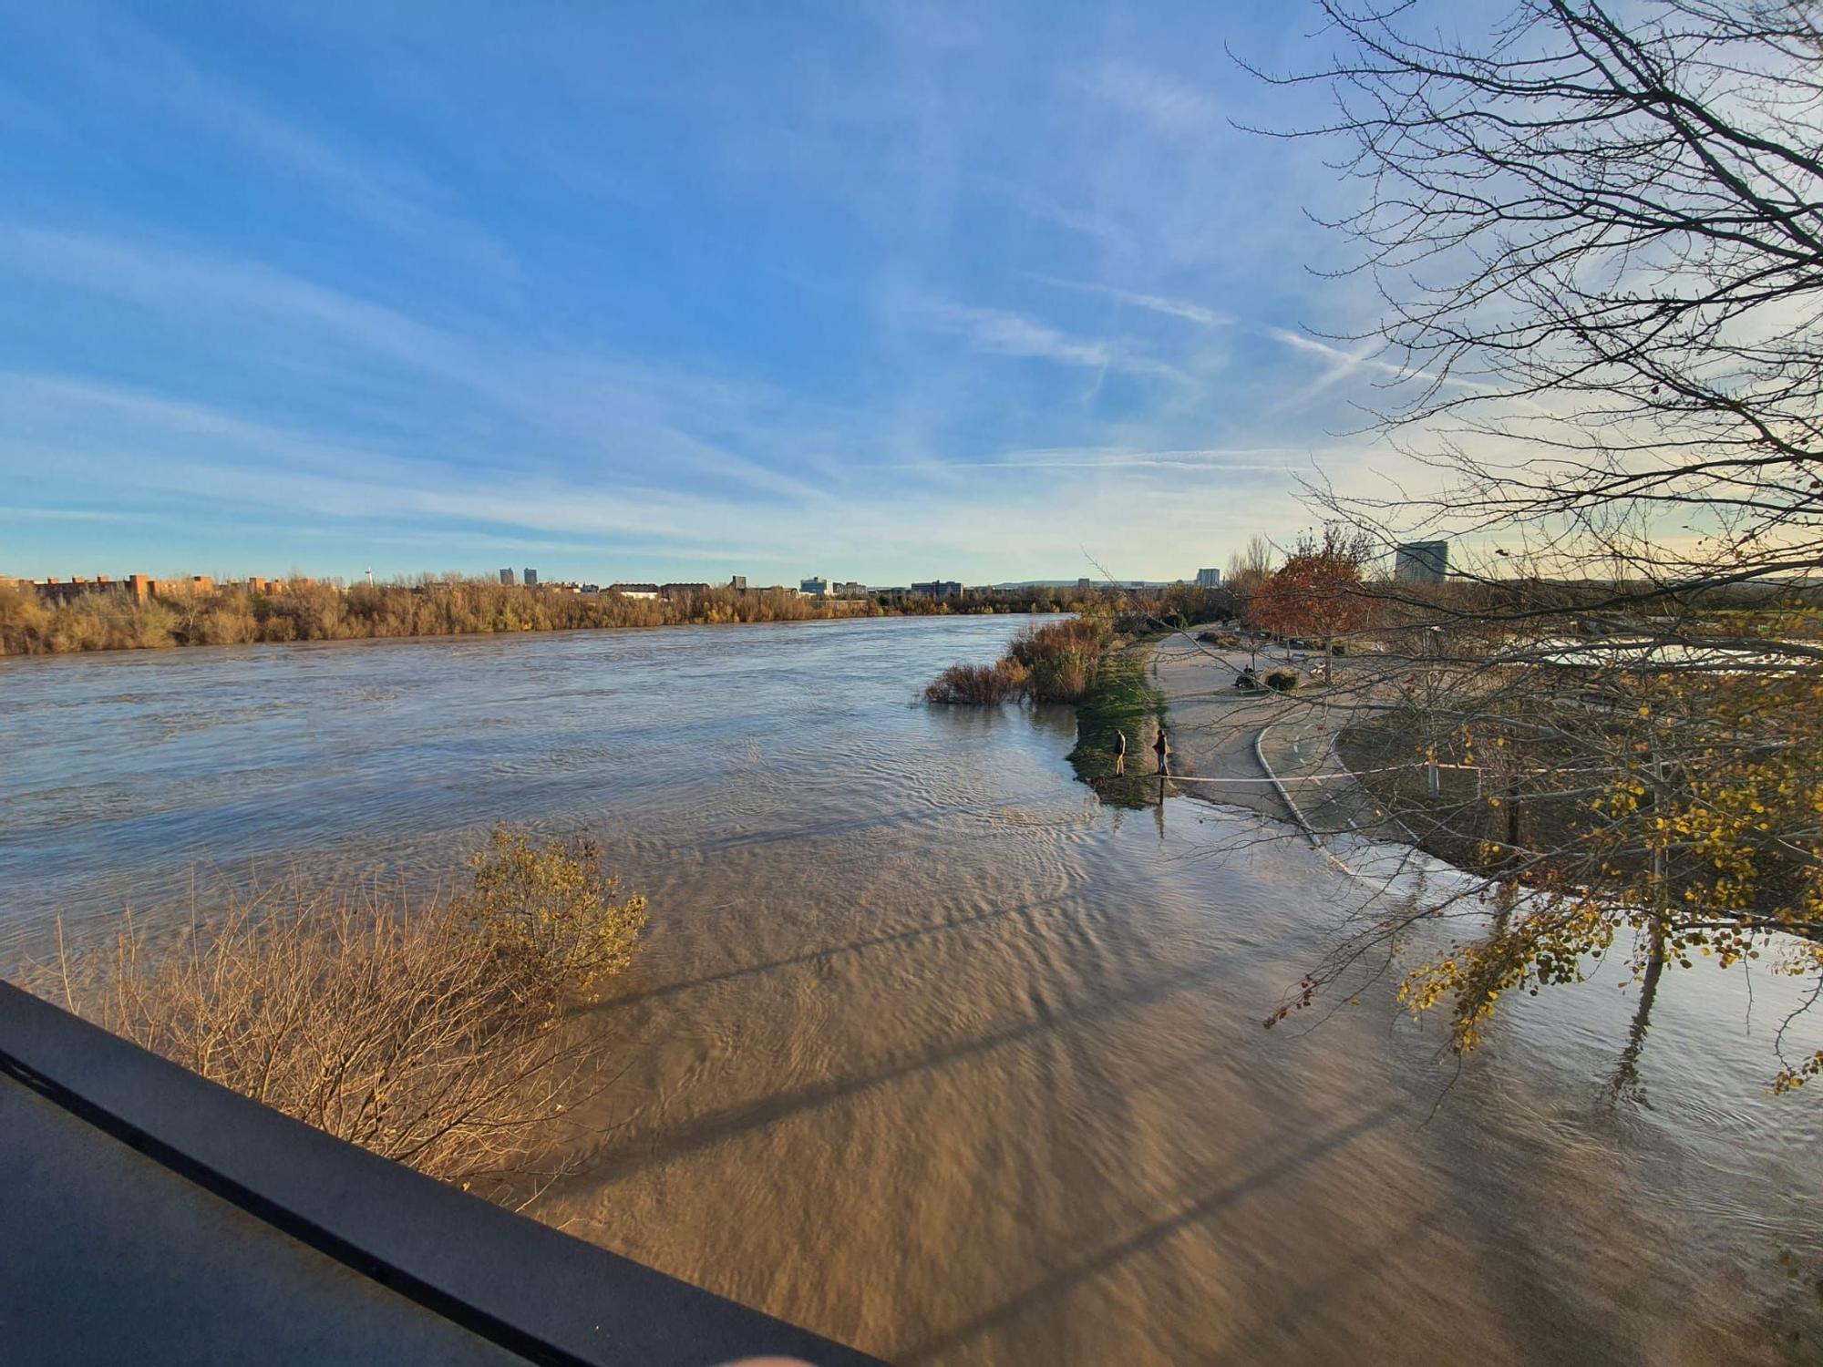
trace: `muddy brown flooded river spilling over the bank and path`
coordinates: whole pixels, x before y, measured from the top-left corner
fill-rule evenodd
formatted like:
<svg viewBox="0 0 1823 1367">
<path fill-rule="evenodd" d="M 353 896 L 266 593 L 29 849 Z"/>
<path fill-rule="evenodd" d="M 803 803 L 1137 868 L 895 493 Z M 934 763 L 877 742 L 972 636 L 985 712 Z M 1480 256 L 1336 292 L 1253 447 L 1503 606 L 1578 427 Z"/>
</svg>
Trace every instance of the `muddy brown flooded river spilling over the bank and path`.
<svg viewBox="0 0 1823 1367">
<path fill-rule="evenodd" d="M 1790 981 L 1668 975 L 1619 1090 L 1617 964 L 1460 1070 L 1384 984 L 1262 1030 L 1362 884 L 1251 813 L 1101 807 L 1068 713 L 915 702 L 1017 625 L 0 660 L 0 953 L 197 869 L 587 829 L 653 922 L 534 1207 L 585 1239 L 915 1363 L 1818 1360 Z"/>
</svg>

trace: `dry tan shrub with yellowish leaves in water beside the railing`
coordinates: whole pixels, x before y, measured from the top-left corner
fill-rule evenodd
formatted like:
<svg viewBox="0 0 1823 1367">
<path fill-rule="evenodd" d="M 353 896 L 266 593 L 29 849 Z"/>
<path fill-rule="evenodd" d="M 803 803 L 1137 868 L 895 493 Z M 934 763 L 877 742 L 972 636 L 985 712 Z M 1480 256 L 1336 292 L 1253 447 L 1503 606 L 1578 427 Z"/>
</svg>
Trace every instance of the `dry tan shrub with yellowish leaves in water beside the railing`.
<svg viewBox="0 0 1823 1367">
<path fill-rule="evenodd" d="M 645 902 L 613 902 L 614 886 L 589 844 L 496 831 L 472 895 L 407 910 L 268 891 L 175 942 L 128 922 L 35 986 L 294 1119 L 503 1197 L 591 1092 L 561 1004 L 631 957 Z"/>
</svg>

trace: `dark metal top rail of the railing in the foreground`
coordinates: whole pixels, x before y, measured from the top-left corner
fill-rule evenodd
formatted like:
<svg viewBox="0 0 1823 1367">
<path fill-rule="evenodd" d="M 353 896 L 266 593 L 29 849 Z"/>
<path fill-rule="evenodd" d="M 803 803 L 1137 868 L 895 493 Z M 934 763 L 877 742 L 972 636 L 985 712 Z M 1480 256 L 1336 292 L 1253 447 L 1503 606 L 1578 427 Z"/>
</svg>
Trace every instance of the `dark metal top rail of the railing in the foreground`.
<svg viewBox="0 0 1823 1367">
<path fill-rule="evenodd" d="M 780 1354 L 826 1367 L 879 1363 L 312 1130 L 5 982 L 0 1075 L 525 1362 L 706 1367 Z M 0 1154 L 9 1143 L 0 1132 Z M 108 1276 L 97 1265 L 80 1294 L 104 1307 Z M 146 1325 L 148 1360 L 160 1356 L 155 1338 L 157 1325 Z M 38 1347 L 49 1352 L 42 1360 L 69 1360 L 69 1343 Z M 29 1334 L 9 1332 L 15 1351 L 20 1362 L 40 1360 Z"/>
</svg>

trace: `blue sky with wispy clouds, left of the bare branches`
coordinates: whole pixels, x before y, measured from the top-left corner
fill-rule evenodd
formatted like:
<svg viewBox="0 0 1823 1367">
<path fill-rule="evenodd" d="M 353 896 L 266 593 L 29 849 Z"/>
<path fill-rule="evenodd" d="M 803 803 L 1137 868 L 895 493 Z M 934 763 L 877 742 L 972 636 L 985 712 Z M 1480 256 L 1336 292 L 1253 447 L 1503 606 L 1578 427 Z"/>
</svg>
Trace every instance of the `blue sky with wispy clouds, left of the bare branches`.
<svg viewBox="0 0 1823 1367">
<path fill-rule="evenodd" d="M 1220 565 L 1389 465 L 1314 24 L 0 0 L 0 572 Z"/>
</svg>

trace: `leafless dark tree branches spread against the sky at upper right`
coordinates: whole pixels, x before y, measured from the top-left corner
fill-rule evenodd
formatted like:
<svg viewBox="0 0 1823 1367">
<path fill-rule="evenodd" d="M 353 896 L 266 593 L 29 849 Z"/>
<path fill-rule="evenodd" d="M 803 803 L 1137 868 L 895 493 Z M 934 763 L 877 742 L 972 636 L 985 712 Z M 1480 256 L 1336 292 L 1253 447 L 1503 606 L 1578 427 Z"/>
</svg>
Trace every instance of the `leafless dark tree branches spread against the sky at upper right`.
<svg viewBox="0 0 1823 1367">
<path fill-rule="evenodd" d="M 1823 35 L 1812 4 L 1522 0 L 1478 44 L 1320 0 L 1327 86 L 1406 379 L 1376 417 L 1447 479 L 1378 525 L 1533 538 L 1633 592 L 1823 558 Z M 1409 24 L 1413 31 L 1402 27 Z M 1360 512 L 1360 505 L 1354 509 Z M 1807 658 L 1818 658 L 1805 653 Z"/>
</svg>

